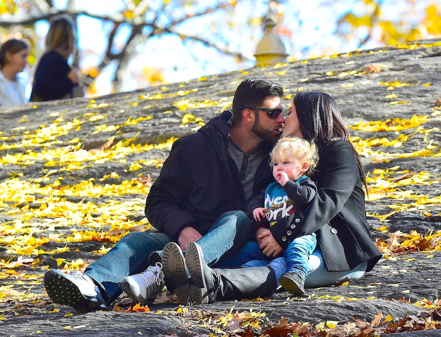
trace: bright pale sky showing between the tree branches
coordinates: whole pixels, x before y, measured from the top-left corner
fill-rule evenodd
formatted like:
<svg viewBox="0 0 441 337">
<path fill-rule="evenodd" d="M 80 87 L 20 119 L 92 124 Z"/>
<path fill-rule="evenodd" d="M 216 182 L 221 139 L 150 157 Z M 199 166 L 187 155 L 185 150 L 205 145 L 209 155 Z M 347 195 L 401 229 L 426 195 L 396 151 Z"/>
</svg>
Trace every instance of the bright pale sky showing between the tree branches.
<svg viewBox="0 0 441 337">
<path fill-rule="evenodd" d="M 430 0 L 419 0 L 419 4 L 425 7 Z M 67 0 L 54 0 L 57 8 L 64 9 Z M 162 0 L 153 0 L 153 5 L 160 5 Z M 209 4 L 215 5 L 216 0 L 206 0 L 201 2 L 200 9 Z M 264 0 L 241 0 L 238 2 L 233 21 L 236 26 L 247 26 L 247 21 L 251 17 L 262 17 L 266 14 L 268 7 Z M 327 0 L 298 1 L 288 0 L 284 5 L 283 26 L 287 27 L 292 36 L 281 36 L 287 53 L 290 57 L 303 59 L 310 56 L 320 56 L 323 51 L 327 53 L 351 51 L 358 47 L 358 38 L 363 37 L 363 29 L 359 31 L 359 36 L 351 39 L 342 39 L 336 34 L 337 18 L 348 10 L 355 14 L 363 11 L 363 6 L 357 0 L 335 0 L 331 3 Z M 383 12 L 388 18 L 398 18 L 400 11 L 396 10 L 397 5 L 406 4 L 403 0 L 385 1 Z M 123 0 L 77 0 L 78 8 L 86 8 L 91 12 L 108 14 L 120 11 L 125 7 Z M 198 7 L 195 8 L 198 10 Z M 182 13 L 181 13 L 182 14 Z M 222 24 L 221 11 L 214 14 L 217 20 L 217 37 L 220 43 L 229 49 L 245 53 L 252 57 L 258 41 L 262 38 L 262 26 L 257 25 L 252 28 L 240 30 L 232 29 L 228 24 Z M 418 15 L 409 20 L 419 20 Z M 162 23 L 169 22 L 169 17 L 161 18 Z M 184 32 L 205 37 L 212 40 L 210 26 L 213 24 L 213 16 L 205 16 L 191 19 L 178 28 Z M 101 62 L 99 55 L 104 53 L 107 47 L 107 35 L 112 29 L 111 22 L 101 19 L 91 18 L 86 15 L 78 16 L 78 48 L 80 50 L 80 67 L 87 69 L 96 66 Z M 207 28 L 208 27 L 208 28 Z M 43 41 L 49 29 L 47 21 L 37 22 L 35 30 Z M 149 33 L 148 27 L 145 33 Z M 128 25 L 121 25 L 116 35 L 116 45 L 121 45 L 127 40 L 131 33 Z M 380 47 L 374 40 L 363 46 L 364 49 Z M 175 34 L 162 34 L 160 37 L 152 37 L 144 43 L 140 43 L 135 48 L 136 55 L 129 63 L 127 74 L 124 77 L 122 91 L 130 91 L 147 86 L 147 83 L 139 80 L 137 76 L 143 67 L 149 66 L 161 69 L 164 82 L 186 81 L 216 73 L 224 73 L 239 69 L 246 69 L 254 66 L 253 61 L 237 62 L 232 56 L 219 53 L 215 48 L 209 48 L 200 42 L 185 41 Z M 96 95 L 103 95 L 111 90 L 111 79 L 116 69 L 116 64 L 109 64 L 97 78 Z M 23 74 L 23 80 L 28 83 L 26 92 L 30 94 L 30 80 L 26 79 L 29 74 Z"/>
</svg>

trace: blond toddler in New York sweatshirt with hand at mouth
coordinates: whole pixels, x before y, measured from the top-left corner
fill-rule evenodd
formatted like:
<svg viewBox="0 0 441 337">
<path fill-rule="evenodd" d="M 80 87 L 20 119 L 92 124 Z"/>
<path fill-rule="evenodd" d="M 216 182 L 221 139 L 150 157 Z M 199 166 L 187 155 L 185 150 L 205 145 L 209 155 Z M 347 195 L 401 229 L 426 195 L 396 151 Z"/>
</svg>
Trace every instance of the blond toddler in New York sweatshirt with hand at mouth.
<svg viewBox="0 0 441 337">
<path fill-rule="evenodd" d="M 317 187 L 307 176 L 318 161 L 318 153 L 314 143 L 298 137 L 281 138 L 270 154 L 273 176 L 276 182 L 262 190 L 262 194 L 255 197 L 249 205 L 249 212 L 256 222 L 262 223 L 266 218 L 269 230 L 286 223 L 288 217 L 310 202 Z M 265 206 L 265 207 L 262 207 Z M 294 227 L 293 227 L 294 226 Z M 295 228 L 295 224 L 291 224 Z M 291 231 L 282 238 L 289 242 L 285 249 L 284 258 L 288 265 L 286 273 L 282 274 L 280 286 L 295 295 L 303 295 L 303 288 L 307 271 L 308 259 L 314 251 L 317 240 L 315 233 L 292 239 Z M 263 243 L 263 242 L 262 242 Z M 279 243 L 284 246 L 284 242 Z"/>
</svg>

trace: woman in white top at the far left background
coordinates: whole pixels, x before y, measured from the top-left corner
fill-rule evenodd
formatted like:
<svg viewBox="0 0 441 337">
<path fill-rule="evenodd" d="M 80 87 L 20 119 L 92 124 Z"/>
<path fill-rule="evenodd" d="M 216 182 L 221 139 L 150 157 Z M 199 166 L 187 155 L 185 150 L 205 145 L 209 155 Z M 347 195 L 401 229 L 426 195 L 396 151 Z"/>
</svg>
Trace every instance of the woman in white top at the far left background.
<svg viewBox="0 0 441 337">
<path fill-rule="evenodd" d="M 17 77 L 27 64 L 29 48 L 22 40 L 7 40 L 0 48 L 0 106 L 26 103 L 22 84 Z"/>
</svg>

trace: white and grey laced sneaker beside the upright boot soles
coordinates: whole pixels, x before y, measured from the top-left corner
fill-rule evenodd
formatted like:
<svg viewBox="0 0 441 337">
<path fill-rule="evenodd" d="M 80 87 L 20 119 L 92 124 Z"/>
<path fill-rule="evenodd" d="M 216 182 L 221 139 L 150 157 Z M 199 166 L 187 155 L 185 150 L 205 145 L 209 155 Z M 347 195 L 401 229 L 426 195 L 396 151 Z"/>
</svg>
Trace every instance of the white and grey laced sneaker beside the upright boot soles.
<svg viewBox="0 0 441 337">
<path fill-rule="evenodd" d="M 154 300 L 164 288 L 162 264 L 157 262 L 156 266 L 150 266 L 140 274 L 124 277 L 119 285 L 124 293 L 144 306 L 149 300 Z"/>
</svg>

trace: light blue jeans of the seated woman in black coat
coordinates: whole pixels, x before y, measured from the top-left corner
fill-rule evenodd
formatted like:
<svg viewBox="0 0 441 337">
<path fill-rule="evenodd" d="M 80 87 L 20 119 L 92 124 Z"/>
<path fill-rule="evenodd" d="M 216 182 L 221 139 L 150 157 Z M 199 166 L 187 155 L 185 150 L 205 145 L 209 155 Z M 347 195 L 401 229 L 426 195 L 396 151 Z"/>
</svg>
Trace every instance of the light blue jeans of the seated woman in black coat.
<svg viewBox="0 0 441 337">
<path fill-rule="evenodd" d="M 277 282 L 280 276 L 286 272 L 287 264 L 284 257 L 269 260 L 269 257 L 262 253 L 257 242 L 249 241 L 238 253 L 228 261 L 221 264 L 221 268 L 241 266 L 247 267 L 272 267 L 276 272 Z M 337 282 L 355 280 L 361 278 L 366 272 L 367 261 L 359 264 L 350 271 L 328 271 L 323 260 L 320 248 L 316 248 L 308 260 L 308 273 L 305 280 L 305 287 L 317 288 L 330 286 Z"/>
</svg>

